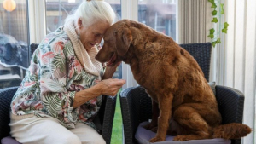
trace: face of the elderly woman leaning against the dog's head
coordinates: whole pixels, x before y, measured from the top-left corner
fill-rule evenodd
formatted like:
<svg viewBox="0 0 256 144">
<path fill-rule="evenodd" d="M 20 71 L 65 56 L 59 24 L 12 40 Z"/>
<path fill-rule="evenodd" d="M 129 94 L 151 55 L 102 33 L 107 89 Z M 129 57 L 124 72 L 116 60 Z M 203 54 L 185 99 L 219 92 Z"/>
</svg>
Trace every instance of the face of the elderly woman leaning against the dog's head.
<svg viewBox="0 0 256 144">
<path fill-rule="evenodd" d="M 80 41 L 86 50 L 91 49 L 96 43 L 101 43 L 102 37 L 110 26 L 108 22 L 96 21 L 89 27 L 82 26 L 82 20 L 79 19 Z"/>
</svg>

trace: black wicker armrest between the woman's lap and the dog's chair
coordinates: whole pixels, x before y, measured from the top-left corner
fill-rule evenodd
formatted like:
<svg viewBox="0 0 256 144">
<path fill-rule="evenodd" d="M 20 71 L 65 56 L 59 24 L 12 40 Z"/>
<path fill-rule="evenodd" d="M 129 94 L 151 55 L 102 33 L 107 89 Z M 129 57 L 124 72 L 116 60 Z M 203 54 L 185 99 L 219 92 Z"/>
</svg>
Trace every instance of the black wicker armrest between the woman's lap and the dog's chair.
<svg viewBox="0 0 256 144">
<path fill-rule="evenodd" d="M 116 105 L 116 96 L 105 95 L 106 102 L 102 105 L 104 107 L 103 118 L 102 118 L 102 137 L 107 144 L 111 142 L 112 128 L 113 128 L 113 117 Z"/>
</svg>

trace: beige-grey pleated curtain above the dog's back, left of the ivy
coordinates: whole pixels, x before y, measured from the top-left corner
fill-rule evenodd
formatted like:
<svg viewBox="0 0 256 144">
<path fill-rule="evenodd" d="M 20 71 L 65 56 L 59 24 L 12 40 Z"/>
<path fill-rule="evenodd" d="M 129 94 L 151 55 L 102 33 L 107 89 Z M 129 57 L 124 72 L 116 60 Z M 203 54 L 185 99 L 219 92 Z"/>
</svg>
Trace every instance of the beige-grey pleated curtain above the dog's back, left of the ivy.
<svg viewBox="0 0 256 144">
<path fill-rule="evenodd" d="M 178 43 L 205 43 L 212 27 L 211 3 L 207 0 L 178 0 Z"/>
</svg>

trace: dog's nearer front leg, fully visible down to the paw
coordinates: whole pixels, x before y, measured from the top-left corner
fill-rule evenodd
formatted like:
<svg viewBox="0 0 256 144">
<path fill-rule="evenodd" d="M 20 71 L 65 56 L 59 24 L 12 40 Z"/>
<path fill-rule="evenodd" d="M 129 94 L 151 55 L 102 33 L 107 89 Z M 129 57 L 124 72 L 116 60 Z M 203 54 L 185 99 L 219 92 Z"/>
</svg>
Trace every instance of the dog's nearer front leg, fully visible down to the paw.
<svg viewBox="0 0 256 144">
<path fill-rule="evenodd" d="M 160 95 L 158 97 L 160 116 L 158 118 L 157 133 L 150 142 L 166 141 L 166 133 L 169 128 L 169 120 L 172 116 L 172 99 L 173 95 Z"/>
</svg>

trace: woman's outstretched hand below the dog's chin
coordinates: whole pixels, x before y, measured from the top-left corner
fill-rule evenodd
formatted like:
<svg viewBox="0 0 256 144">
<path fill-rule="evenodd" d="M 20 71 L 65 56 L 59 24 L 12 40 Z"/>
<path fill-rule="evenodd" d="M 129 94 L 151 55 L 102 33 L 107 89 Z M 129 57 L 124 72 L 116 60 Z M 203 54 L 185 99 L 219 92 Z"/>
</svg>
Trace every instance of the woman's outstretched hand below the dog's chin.
<svg viewBox="0 0 256 144">
<path fill-rule="evenodd" d="M 110 78 L 97 82 L 102 95 L 114 96 L 119 92 L 119 89 L 126 83 L 124 79 Z"/>
</svg>

